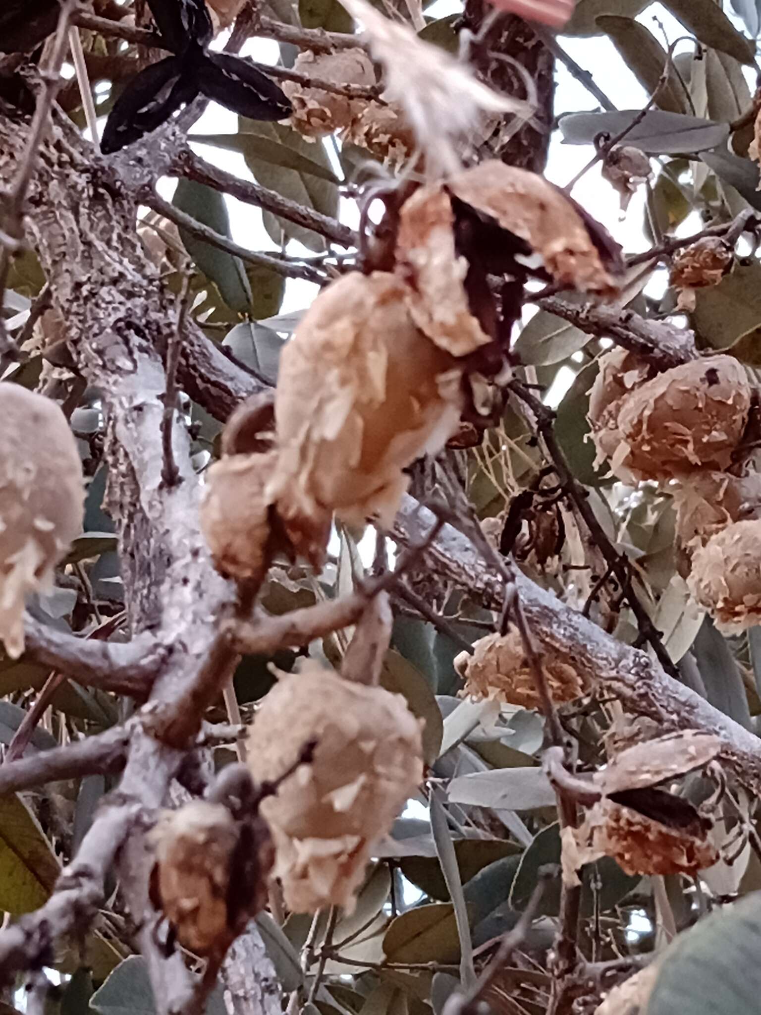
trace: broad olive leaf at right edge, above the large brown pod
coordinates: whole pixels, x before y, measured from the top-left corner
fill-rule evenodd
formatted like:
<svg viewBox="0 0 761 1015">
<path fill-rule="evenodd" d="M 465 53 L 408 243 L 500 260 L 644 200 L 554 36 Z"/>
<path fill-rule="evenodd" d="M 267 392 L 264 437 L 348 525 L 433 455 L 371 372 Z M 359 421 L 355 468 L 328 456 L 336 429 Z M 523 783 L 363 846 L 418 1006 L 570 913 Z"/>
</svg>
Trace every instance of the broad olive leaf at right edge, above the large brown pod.
<svg viewBox="0 0 761 1015">
<path fill-rule="evenodd" d="M 718 285 L 695 293 L 692 327 L 703 347 L 725 349 L 761 324 L 761 264 L 738 262 Z"/>
</svg>

